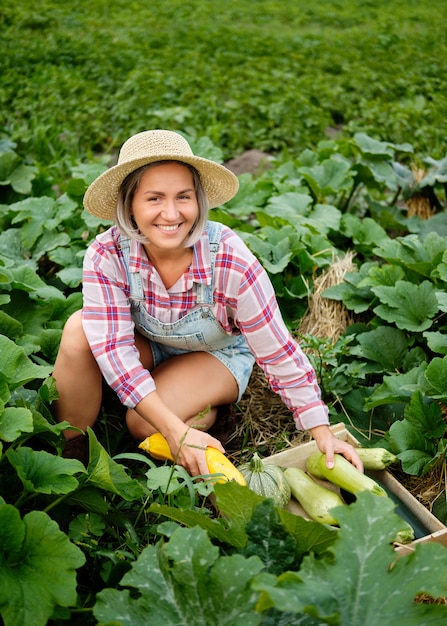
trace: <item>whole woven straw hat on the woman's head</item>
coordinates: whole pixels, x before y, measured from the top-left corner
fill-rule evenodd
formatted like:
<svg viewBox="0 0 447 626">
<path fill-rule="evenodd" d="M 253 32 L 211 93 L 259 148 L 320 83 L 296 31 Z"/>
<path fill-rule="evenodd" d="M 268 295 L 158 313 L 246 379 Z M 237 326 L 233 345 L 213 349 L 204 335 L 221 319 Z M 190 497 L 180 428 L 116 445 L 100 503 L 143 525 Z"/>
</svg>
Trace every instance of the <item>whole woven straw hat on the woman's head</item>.
<svg viewBox="0 0 447 626">
<path fill-rule="evenodd" d="M 170 130 L 147 130 L 122 146 L 118 164 L 98 176 L 87 189 L 84 206 L 96 217 L 113 219 L 121 183 L 128 174 L 154 161 L 181 161 L 199 172 L 210 209 L 231 200 L 239 188 L 237 177 L 226 167 L 194 156 L 184 137 Z"/>
</svg>

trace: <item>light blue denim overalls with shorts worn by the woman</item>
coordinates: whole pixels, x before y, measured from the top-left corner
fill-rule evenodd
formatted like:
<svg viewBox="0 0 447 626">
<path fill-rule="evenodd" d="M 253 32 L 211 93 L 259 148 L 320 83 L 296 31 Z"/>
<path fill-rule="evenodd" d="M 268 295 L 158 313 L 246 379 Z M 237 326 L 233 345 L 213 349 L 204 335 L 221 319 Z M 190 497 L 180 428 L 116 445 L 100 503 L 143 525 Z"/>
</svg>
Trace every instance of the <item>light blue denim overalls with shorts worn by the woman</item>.
<svg viewBox="0 0 447 626">
<path fill-rule="evenodd" d="M 210 240 L 211 273 L 219 249 L 222 224 L 207 222 Z M 165 359 L 186 352 L 209 352 L 218 358 L 233 374 L 239 387 L 241 399 L 250 379 L 254 357 L 243 335 L 229 335 L 216 319 L 212 307 L 213 284 L 194 283 L 195 307 L 173 323 L 160 322 L 143 306 L 144 287 L 139 272 L 129 269 L 130 240 L 120 239 L 123 260 L 130 285 L 132 319 L 138 331 L 150 340 L 154 367 Z"/>
</svg>

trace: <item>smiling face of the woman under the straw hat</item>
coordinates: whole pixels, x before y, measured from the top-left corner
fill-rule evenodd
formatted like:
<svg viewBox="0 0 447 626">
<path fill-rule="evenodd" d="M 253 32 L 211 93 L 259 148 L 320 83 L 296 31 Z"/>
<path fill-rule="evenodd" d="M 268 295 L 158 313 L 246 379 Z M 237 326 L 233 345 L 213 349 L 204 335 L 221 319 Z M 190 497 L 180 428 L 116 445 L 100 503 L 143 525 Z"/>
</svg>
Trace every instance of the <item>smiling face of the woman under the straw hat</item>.
<svg viewBox="0 0 447 626">
<path fill-rule="evenodd" d="M 191 171 L 180 163 L 147 169 L 133 197 L 132 215 L 150 249 L 184 248 L 199 215 Z"/>
</svg>

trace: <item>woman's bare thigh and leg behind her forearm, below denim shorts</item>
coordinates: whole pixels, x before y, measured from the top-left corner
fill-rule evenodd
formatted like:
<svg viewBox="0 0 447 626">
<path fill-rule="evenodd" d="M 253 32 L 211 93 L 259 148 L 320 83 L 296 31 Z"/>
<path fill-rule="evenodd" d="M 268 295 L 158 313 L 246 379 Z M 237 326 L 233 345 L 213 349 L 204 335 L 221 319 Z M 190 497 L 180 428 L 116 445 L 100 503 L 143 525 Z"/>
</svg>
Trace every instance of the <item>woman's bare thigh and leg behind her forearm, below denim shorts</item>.
<svg viewBox="0 0 447 626">
<path fill-rule="evenodd" d="M 152 371 L 157 391 L 181 420 L 194 428 L 208 430 L 216 418 L 216 407 L 235 402 L 238 386 L 231 372 L 216 357 L 206 352 L 190 352 L 171 357 Z M 197 415 L 208 406 L 201 420 Z M 136 411 L 126 415 L 131 435 L 138 440 L 155 430 Z"/>
</svg>

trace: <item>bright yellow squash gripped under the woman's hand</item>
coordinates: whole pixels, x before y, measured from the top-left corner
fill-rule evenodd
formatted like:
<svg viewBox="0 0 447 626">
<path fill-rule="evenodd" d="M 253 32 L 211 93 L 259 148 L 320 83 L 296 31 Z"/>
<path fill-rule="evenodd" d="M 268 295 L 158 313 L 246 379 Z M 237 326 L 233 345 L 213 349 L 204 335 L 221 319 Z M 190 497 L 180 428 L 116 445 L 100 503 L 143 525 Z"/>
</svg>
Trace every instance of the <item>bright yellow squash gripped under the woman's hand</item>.
<svg viewBox="0 0 447 626">
<path fill-rule="evenodd" d="M 155 433 L 146 437 L 138 446 L 141 450 L 148 452 L 154 459 L 159 461 L 175 461 L 168 442 L 160 433 Z M 235 481 L 240 485 L 246 485 L 245 478 L 241 472 L 222 454 L 217 448 L 207 448 L 205 450 L 206 462 L 210 474 L 221 474 L 216 479 L 218 483 Z"/>
</svg>

